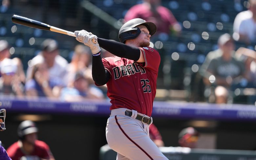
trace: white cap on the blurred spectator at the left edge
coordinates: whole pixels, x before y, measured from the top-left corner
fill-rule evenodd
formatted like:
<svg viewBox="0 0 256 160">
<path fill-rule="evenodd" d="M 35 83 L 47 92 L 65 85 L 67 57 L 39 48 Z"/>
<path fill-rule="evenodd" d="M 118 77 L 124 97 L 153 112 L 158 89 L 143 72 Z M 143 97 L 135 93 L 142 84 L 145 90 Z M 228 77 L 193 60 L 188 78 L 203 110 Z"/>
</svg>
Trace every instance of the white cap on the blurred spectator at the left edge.
<svg viewBox="0 0 256 160">
<path fill-rule="evenodd" d="M 1 73 L 16 73 L 17 71 L 17 66 L 13 62 L 12 59 L 10 58 L 5 58 L 1 63 L 0 63 L 0 71 Z"/>
</svg>

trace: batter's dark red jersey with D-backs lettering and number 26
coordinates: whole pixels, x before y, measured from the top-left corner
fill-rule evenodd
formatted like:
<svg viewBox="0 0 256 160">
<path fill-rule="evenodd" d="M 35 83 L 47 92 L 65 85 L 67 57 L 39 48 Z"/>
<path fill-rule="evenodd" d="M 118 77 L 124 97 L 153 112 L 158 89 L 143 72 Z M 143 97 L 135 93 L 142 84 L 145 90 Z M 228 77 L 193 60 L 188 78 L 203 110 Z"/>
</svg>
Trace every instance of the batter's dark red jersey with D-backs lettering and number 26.
<svg viewBox="0 0 256 160">
<path fill-rule="evenodd" d="M 144 63 L 117 56 L 102 58 L 105 69 L 111 73 L 107 96 L 111 99 L 110 110 L 127 108 L 151 116 L 160 55 L 150 47 L 139 49 Z"/>
</svg>

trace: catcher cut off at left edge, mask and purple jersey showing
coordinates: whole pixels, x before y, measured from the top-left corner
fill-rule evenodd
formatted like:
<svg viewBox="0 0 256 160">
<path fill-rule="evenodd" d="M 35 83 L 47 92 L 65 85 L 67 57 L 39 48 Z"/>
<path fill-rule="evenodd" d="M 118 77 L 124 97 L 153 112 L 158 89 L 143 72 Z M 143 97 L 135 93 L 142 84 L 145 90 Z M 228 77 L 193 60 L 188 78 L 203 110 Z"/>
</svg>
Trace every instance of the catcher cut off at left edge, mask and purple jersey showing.
<svg viewBox="0 0 256 160">
<path fill-rule="evenodd" d="M 5 116 L 6 116 L 6 110 L 1 109 L 0 110 L 0 131 L 5 130 Z M 6 150 L 1 144 L 2 142 L 0 141 L 0 160 L 11 160 L 11 158 L 8 156 Z"/>
</svg>

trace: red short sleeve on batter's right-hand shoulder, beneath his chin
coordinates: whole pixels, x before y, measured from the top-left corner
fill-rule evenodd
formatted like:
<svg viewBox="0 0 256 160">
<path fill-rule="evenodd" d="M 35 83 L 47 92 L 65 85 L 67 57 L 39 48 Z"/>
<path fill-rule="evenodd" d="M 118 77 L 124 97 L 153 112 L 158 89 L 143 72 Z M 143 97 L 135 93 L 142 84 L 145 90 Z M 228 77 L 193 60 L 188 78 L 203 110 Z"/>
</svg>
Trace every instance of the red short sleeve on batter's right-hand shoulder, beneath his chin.
<svg viewBox="0 0 256 160">
<path fill-rule="evenodd" d="M 158 68 L 160 65 L 160 54 L 157 50 L 151 47 L 139 48 L 142 51 L 145 62 L 139 63 L 144 68 L 148 68 L 155 73 L 158 73 Z M 142 65 L 143 64 L 143 65 Z"/>
</svg>

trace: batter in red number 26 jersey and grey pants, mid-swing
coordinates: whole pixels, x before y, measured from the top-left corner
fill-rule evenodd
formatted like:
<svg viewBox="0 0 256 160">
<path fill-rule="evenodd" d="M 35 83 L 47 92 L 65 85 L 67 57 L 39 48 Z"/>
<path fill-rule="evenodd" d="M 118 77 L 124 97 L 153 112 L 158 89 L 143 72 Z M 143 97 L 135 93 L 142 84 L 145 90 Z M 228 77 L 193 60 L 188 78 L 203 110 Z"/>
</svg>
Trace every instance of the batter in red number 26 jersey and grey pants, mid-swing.
<svg viewBox="0 0 256 160">
<path fill-rule="evenodd" d="M 140 18 L 121 27 L 121 43 L 97 38 L 85 30 L 75 31 L 76 40 L 92 50 L 95 84 L 107 84 L 112 105 L 106 138 L 117 152 L 117 160 L 167 159 L 149 137 L 160 64 L 160 55 L 149 47 L 149 42 L 156 31 L 154 23 Z M 99 46 L 116 56 L 101 59 Z"/>
</svg>

